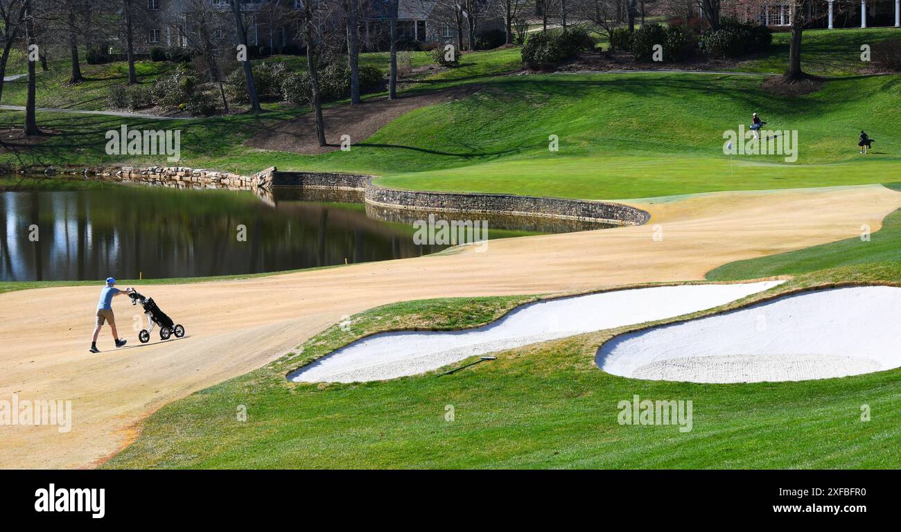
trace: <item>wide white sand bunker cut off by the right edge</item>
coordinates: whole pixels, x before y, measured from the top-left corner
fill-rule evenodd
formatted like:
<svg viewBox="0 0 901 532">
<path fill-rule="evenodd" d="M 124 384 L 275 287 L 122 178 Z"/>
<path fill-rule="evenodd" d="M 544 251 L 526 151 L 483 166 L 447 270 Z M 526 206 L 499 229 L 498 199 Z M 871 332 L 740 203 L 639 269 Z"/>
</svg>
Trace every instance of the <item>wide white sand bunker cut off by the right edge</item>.
<svg viewBox="0 0 901 532">
<path fill-rule="evenodd" d="M 692 383 L 805 381 L 901 366 L 901 288 L 863 286 L 786 296 L 613 338 L 604 371 Z"/>
</svg>

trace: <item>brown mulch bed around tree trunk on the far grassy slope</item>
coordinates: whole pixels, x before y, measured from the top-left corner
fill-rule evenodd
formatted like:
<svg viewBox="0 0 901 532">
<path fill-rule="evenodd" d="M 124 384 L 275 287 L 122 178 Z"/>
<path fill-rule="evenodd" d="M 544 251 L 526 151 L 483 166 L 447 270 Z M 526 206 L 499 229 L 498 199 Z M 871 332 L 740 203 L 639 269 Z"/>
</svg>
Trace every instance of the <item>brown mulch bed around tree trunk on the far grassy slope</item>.
<svg viewBox="0 0 901 532">
<path fill-rule="evenodd" d="M 316 139 L 313 113 L 305 113 L 295 120 L 278 122 L 272 129 L 259 131 L 244 142 L 245 146 L 275 151 L 291 151 L 315 155 L 334 151 L 341 147 L 341 135 L 350 135 L 350 143 L 369 139 L 376 131 L 400 115 L 425 107 L 442 104 L 472 95 L 481 88 L 478 85 L 452 87 L 428 93 L 401 95 L 394 101 L 385 97 L 365 100 L 357 105 L 336 105 L 323 109 L 325 140 L 328 146 L 321 148 Z"/>
</svg>

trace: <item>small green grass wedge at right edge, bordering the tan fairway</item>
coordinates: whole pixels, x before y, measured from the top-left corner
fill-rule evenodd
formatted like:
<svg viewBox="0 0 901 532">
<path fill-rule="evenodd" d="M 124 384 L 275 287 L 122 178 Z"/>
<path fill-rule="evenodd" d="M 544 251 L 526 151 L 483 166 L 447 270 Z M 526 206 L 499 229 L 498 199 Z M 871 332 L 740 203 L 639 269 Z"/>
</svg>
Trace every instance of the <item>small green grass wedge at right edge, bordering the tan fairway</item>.
<svg viewBox="0 0 901 532">
<path fill-rule="evenodd" d="M 901 184 L 888 186 L 901 190 Z M 877 232 L 865 235 L 865 230 L 861 227 L 861 236 L 853 239 L 732 262 L 715 268 L 706 276 L 713 281 L 729 281 L 799 275 L 824 268 L 901 260 L 901 211 L 889 214 L 882 221 L 882 229 Z"/>
</svg>

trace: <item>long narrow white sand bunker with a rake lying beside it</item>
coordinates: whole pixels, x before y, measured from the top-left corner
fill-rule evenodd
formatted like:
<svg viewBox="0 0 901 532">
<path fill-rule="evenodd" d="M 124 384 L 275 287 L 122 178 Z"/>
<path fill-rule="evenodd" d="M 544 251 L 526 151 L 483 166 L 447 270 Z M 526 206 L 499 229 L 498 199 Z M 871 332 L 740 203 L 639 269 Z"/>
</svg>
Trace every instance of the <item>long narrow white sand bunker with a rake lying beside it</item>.
<svg viewBox="0 0 901 532">
<path fill-rule="evenodd" d="M 658 286 L 534 302 L 478 329 L 393 332 L 363 338 L 288 378 L 352 383 L 420 374 L 469 356 L 712 309 L 779 283 Z"/>
</svg>

